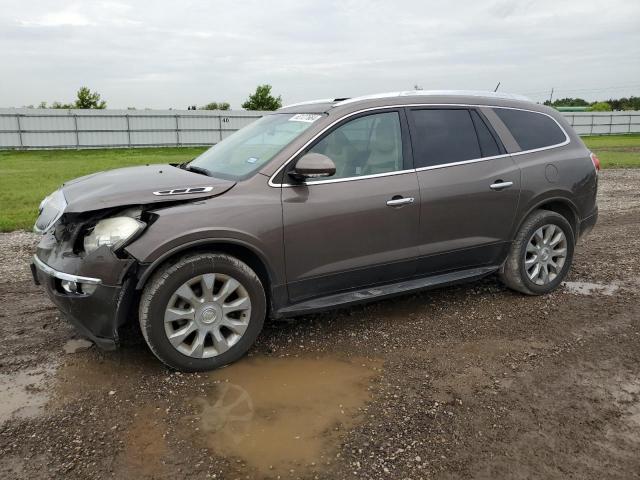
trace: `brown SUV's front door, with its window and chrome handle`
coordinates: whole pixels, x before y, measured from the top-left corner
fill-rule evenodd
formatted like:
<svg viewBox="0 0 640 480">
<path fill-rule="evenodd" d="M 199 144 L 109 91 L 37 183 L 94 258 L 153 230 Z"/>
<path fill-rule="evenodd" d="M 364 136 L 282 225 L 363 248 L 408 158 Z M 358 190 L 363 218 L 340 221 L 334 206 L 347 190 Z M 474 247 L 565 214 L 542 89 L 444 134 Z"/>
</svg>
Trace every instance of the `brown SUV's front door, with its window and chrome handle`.
<svg viewBox="0 0 640 480">
<path fill-rule="evenodd" d="M 406 129 L 404 112 L 385 110 L 338 124 L 303 152 L 327 155 L 336 174 L 282 187 L 291 301 L 415 273 L 420 197 Z"/>
</svg>

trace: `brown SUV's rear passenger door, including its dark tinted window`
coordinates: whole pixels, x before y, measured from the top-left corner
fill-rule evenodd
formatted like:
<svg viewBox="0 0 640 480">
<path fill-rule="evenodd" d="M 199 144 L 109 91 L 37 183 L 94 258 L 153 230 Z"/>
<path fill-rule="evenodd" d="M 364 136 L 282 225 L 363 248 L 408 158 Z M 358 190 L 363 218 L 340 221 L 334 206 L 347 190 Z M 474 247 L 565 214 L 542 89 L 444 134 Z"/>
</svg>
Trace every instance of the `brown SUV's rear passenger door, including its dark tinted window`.
<svg viewBox="0 0 640 480">
<path fill-rule="evenodd" d="M 482 113 L 408 109 L 420 185 L 418 273 L 493 265 L 510 242 L 520 170 Z"/>
</svg>

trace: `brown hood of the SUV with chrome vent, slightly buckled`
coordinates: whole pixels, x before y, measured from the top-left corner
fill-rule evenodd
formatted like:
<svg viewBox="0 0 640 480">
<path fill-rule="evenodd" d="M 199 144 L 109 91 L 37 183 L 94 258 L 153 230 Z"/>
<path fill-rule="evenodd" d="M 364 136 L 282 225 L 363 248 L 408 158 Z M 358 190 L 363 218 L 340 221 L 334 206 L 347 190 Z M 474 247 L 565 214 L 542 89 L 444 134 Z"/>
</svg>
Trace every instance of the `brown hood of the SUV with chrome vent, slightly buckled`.
<svg viewBox="0 0 640 480">
<path fill-rule="evenodd" d="M 76 178 L 62 185 L 65 212 L 80 213 L 125 205 L 207 198 L 235 185 L 172 165 L 118 168 Z M 156 192 L 156 193 L 154 193 Z"/>
</svg>

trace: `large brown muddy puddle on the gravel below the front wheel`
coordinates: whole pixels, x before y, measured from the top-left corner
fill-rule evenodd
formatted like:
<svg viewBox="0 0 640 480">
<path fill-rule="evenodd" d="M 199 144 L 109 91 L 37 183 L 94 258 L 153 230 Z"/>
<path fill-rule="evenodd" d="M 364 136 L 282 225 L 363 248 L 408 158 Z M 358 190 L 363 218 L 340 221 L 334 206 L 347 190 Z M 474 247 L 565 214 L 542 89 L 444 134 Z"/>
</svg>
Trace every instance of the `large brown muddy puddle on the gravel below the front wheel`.
<svg viewBox="0 0 640 480">
<path fill-rule="evenodd" d="M 255 358 L 213 372 L 195 399 L 195 435 L 218 456 L 262 475 L 313 469 L 335 457 L 358 421 L 381 364 L 371 360 Z"/>
</svg>

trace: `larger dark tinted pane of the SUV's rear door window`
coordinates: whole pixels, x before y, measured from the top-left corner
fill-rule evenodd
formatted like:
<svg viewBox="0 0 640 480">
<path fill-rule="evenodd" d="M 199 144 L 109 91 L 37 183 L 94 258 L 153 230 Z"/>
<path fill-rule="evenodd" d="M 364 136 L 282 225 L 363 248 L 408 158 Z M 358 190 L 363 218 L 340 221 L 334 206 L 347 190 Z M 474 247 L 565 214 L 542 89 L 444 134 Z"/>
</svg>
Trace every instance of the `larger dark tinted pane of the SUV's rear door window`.
<svg viewBox="0 0 640 480">
<path fill-rule="evenodd" d="M 480 144 L 467 109 L 411 110 L 416 168 L 480 158 Z"/>
</svg>

